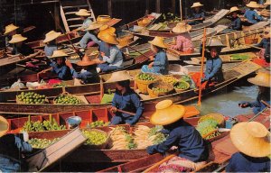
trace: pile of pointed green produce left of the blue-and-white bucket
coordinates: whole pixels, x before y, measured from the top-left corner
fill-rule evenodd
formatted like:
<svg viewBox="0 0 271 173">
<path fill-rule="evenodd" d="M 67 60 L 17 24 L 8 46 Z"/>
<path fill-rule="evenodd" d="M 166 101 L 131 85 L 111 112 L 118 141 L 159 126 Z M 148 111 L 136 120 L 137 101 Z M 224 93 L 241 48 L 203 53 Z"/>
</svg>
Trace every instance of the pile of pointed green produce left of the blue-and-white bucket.
<svg viewBox="0 0 271 173">
<path fill-rule="evenodd" d="M 43 122 L 31 121 L 31 116 L 28 115 L 28 120 L 23 124 L 24 132 L 42 132 L 42 131 L 59 131 L 65 130 L 64 125 L 59 125 L 54 118 L 49 115 L 49 120 L 44 120 Z"/>
</svg>

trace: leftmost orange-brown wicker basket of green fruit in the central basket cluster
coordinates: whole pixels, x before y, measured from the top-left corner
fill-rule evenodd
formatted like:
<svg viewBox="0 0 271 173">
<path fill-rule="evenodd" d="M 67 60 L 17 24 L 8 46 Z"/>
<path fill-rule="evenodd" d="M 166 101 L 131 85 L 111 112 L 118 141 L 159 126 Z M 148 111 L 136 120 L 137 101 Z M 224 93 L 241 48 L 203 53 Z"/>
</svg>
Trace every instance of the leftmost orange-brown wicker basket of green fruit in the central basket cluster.
<svg viewBox="0 0 271 173">
<path fill-rule="evenodd" d="M 155 92 L 152 88 L 153 87 L 159 87 L 159 88 L 163 88 L 163 89 L 167 89 L 166 92 Z M 158 81 L 152 84 L 149 84 L 147 87 L 148 90 L 148 94 L 151 98 L 156 98 L 158 96 L 166 96 L 166 95 L 170 95 L 171 93 L 174 92 L 174 87 L 173 85 L 170 85 L 168 83 L 162 82 L 162 81 Z"/>
</svg>

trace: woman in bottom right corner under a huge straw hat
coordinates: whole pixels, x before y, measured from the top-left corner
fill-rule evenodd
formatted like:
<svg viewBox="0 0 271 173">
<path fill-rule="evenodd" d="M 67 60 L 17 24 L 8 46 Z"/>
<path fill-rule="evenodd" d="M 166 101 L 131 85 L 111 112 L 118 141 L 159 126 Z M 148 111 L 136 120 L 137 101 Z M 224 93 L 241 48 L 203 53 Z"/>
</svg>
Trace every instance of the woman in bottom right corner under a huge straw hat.
<svg viewBox="0 0 271 173">
<path fill-rule="evenodd" d="M 239 151 L 229 159 L 226 172 L 270 172 L 270 132 L 262 123 L 238 123 L 230 139 Z"/>
</svg>

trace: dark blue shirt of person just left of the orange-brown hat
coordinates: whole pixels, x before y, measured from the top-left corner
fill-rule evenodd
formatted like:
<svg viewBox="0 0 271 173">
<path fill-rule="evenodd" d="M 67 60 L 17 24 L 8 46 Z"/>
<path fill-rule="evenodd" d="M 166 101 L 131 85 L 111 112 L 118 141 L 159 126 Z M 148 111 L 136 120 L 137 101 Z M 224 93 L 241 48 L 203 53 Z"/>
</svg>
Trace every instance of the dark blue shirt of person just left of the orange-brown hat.
<svg viewBox="0 0 271 173">
<path fill-rule="evenodd" d="M 70 68 L 66 65 L 59 66 L 56 62 L 51 62 L 51 71 L 56 73 L 61 80 L 70 80 L 72 79 Z"/>
</svg>

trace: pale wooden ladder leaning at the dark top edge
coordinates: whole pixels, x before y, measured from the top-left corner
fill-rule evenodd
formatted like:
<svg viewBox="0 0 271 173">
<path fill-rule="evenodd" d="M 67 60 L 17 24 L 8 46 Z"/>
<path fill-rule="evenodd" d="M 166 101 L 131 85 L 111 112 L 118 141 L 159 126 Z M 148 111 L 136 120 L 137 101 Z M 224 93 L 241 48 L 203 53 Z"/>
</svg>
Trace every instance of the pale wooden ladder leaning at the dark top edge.
<svg viewBox="0 0 271 173">
<path fill-rule="evenodd" d="M 76 15 L 79 9 L 87 9 L 91 13 L 89 16 L 91 21 L 96 22 L 89 0 L 61 0 L 61 19 L 66 32 L 70 32 L 82 25 L 83 22 Z"/>
</svg>

